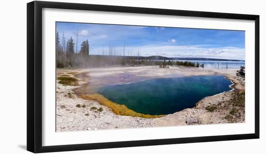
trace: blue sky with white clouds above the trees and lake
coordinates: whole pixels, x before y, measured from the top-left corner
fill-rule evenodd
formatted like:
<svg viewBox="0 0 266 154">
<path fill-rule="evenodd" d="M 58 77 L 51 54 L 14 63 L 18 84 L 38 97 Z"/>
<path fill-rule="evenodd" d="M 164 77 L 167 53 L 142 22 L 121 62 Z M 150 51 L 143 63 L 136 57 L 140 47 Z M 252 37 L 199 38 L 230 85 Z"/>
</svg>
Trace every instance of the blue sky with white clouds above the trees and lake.
<svg viewBox="0 0 266 154">
<path fill-rule="evenodd" d="M 189 28 L 145 27 L 57 22 L 60 39 L 74 39 L 78 31 L 78 50 L 88 39 L 90 54 L 109 54 L 109 45 L 116 55 L 165 57 L 201 57 L 245 60 L 245 31 Z M 76 45 L 75 45 L 76 46 Z"/>
</svg>

